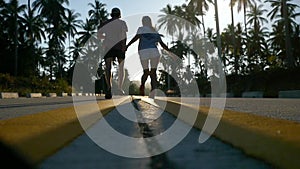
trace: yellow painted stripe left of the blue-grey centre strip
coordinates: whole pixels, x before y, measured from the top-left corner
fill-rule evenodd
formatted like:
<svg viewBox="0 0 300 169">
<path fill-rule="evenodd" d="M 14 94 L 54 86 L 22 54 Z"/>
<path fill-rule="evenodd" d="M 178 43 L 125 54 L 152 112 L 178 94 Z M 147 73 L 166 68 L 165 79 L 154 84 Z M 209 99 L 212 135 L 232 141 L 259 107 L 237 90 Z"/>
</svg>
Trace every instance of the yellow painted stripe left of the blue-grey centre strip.
<svg viewBox="0 0 300 169">
<path fill-rule="evenodd" d="M 105 115 L 128 99 L 129 97 L 101 100 L 98 102 L 99 109 L 102 115 Z M 86 103 L 78 107 L 89 110 L 89 106 L 90 103 Z M 101 118 L 102 115 L 95 115 L 97 113 L 99 111 L 88 116 Z M 93 121 L 96 122 L 99 118 L 94 118 Z M 83 132 L 73 106 L 0 121 L 0 140 L 34 165 Z"/>
</svg>

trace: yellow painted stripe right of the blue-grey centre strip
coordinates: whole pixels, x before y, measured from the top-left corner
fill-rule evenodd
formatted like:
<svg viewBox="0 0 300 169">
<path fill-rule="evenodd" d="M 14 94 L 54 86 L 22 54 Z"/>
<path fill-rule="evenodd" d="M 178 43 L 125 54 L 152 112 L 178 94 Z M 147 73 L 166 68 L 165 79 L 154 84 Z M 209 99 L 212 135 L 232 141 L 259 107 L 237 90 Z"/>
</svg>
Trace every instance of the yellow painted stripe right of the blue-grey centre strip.
<svg viewBox="0 0 300 169">
<path fill-rule="evenodd" d="M 171 100 L 156 99 L 155 102 L 158 105 L 166 105 L 165 110 L 176 117 L 183 106 Z M 198 110 L 197 120 L 192 125 L 202 129 L 209 108 L 193 105 L 184 107 L 184 113 L 189 113 L 189 109 Z M 300 123 L 224 110 L 213 135 L 275 167 L 300 168 Z"/>
</svg>

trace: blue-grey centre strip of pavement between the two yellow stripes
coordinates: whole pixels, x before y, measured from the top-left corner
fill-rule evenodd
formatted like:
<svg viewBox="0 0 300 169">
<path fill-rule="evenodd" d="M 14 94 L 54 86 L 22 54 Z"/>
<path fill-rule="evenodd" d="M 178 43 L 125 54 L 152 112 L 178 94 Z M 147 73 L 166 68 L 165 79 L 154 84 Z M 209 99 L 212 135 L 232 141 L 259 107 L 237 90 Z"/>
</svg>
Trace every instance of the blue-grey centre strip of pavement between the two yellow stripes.
<svg viewBox="0 0 300 169">
<path fill-rule="evenodd" d="M 137 124 L 124 118 L 117 109 L 105 116 L 105 120 L 118 132 L 129 137 L 150 137 L 158 135 L 168 129 L 175 121 L 174 116 L 163 112 L 148 103 L 138 101 L 138 107 L 142 111 L 127 112 L 143 118 L 150 123 Z M 131 106 L 130 103 L 127 106 Z M 129 115 L 130 116 L 130 115 Z M 155 120 L 156 119 L 156 120 Z M 103 120 L 103 119 L 102 119 Z M 100 122 L 99 122 L 100 123 Z M 181 123 L 181 125 L 186 125 Z M 97 126 L 94 125 L 94 126 Z M 90 130 L 95 130 L 93 127 Z M 200 131 L 192 129 L 180 144 L 170 151 L 153 156 L 151 158 L 126 158 L 109 153 L 99 147 L 87 134 L 83 134 L 69 146 L 54 154 L 41 165 L 41 169 L 263 169 L 271 168 L 263 161 L 251 158 L 238 149 L 225 144 L 216 138 L 211 138 L 204 144 L 198 143 Z M 105 136 L 99 136 L 105 137 Z M 122 144 L 122 140 L 111 140 Z M 126 146 L 126 145 L 124 145 Z M 145 144 L 145 147 L 137 146 L 133 151 L 153 151 L 159 145 Z"/>
</svg>

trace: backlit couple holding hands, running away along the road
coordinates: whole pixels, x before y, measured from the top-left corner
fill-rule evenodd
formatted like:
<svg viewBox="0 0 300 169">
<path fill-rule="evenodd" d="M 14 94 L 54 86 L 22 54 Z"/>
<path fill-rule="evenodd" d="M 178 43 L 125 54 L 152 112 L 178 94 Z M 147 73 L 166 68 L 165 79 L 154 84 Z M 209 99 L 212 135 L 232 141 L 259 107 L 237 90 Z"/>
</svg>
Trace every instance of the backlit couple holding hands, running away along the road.
<svg viewBox="0 0 300 169">
<path fill-rule="evenodd" d="M 119 63 L 118 71 L 118 94 L 124 94 L 122 89 L 124 82 L 124 60 L 127 48 L 139 40 L 138 54 L 140 62 L 143 67 L 143 75 L 141 78 L 140 95 L 145 95 L 145 83 L 150 76 L 151 78 L 151 92 L 149 97 L 154 98 L 155 89 L 157 88 L 157 66 L 160 59 L 160 52 L 157 48 L 160 46 L 169 51 L 167 45 L 162 41 L 161 35 L 152 26 L 152 21 L 149 16 L 142 18 L 142 26 L 138 28 L 136 35 L 126 45 L 126 32 L 128 31 L 126 22 L 121 20 L 121 11 L 118 8 L 113 8 L 111 11 L 111 19 L 104 22 L 98 30 L 98 37 L 104 39 L 103 46 L 105 50 L 105 65 L 106 65 L 106 84 L 107 92 L 106 99 L 112 98 L 112 75 L 111 65 L 117 58 Z M 150 62 L 150 67 L 149 67 Z"/>
</svg>

